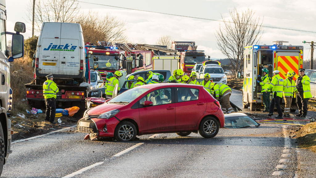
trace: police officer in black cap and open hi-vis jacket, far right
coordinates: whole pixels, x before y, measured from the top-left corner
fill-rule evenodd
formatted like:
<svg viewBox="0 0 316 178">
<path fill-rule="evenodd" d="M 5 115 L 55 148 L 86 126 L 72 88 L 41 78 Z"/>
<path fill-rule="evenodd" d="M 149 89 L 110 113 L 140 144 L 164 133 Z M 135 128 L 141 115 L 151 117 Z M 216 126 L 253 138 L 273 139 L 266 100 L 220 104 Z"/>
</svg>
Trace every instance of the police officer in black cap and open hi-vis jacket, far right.
<svg viewBox="0 0 316 178">
<path fill-rule="evenodd" d="M 297 106 L 300 111 L 299 114 L 295 116 L 306 117 L 307 115 L 307 102 L 309 98 L 312 98 L 310 79 L 305 75 L 305 69 L 299 69 L 300 76 L 296 80 L 296 89 L 297 89 Z"/>
</svg>

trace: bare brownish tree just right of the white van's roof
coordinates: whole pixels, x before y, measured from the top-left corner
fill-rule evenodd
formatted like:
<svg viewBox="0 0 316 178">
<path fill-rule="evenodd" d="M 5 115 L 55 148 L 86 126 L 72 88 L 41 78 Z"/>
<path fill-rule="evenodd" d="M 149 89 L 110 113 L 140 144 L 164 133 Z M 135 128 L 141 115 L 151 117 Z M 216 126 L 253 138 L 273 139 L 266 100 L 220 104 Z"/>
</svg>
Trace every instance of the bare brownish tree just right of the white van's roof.
<svg viewBox="0 0 316 178">
<path fill-rule="evenodd" d="M 127 37 L 124 35 L 126 23 L 116 16 L 99 16 L 98 13 L 89 11 L 88 15 L 81 16 L 79 22 L 86 42 L 96 44 L 97 41 L 111 41 L 124 43 Z"/>
</svg>

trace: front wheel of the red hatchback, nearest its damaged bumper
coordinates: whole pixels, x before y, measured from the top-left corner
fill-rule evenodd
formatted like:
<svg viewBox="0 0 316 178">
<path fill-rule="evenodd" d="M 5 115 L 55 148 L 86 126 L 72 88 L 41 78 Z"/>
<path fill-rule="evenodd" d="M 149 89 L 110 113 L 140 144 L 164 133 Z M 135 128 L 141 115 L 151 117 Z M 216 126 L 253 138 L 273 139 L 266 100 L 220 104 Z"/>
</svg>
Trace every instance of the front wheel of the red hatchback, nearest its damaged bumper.
<svg viewBox="0 0 316 178">
<path fill-rule="evenodd" d="M 114 131 L 114 138 L 117 141 L 132 141 L 136 138 L 137 130 L 129 121 L 120 122 Z"/>
</svg>

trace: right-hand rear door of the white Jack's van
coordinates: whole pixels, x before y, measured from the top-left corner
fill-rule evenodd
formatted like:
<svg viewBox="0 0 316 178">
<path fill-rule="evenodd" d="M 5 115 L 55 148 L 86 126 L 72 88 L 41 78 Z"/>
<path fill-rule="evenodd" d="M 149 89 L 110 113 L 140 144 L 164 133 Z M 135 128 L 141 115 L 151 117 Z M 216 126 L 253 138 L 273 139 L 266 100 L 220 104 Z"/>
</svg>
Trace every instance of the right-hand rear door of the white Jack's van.
<svg viewBox="0 0 316 178">
<path fill-rule="evenodd" d="M 76 23 L 61 24 L 60 75 L 79 75 L 80 70 L 80 32 Z"/>
</svg>

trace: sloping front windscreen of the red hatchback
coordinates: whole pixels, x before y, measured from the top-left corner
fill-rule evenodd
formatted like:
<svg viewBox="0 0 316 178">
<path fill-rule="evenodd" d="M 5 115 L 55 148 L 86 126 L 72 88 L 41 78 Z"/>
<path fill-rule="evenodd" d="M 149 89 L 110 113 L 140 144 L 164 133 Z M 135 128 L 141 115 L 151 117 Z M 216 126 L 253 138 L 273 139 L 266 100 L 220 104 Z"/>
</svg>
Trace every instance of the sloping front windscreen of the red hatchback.
<svg viewBox="0 0 316 178">
<path fill-rule="evenodd" d="M 141 88 L 141 87 L 135 87 L 130 90 L 127 90 L 118 96 L 114 97 L 108 103 L 118 103 L 118 104 L 124 104 L 124 103 L 131 103 L 134 99 L 142 95 L 143 93 L 147 92 L 148 88 Z"/>
</svg>

